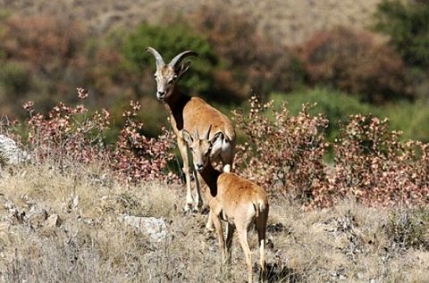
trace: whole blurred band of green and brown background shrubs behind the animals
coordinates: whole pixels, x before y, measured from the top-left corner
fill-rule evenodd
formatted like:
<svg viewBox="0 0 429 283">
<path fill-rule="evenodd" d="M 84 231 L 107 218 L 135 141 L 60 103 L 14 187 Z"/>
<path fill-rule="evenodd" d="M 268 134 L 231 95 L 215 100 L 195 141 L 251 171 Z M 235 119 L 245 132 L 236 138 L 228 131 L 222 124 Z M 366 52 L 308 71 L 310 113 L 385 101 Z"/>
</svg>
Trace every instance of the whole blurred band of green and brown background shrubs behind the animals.
<svg viewBox="0 0 429 283">
<path fill-rule="evenodd" d="M 423 122 L 429 89 L 425 1 L 382 1 L 366 12 L 365 30 L 350 29 L 344 21 L 343 27 L 306 31 L 307 38 L 294 44 L 274 40 L 261 32 L 257 17 L 222 4 L 166 12 L 163 24 L 147 18 L 97 32 L 92 21 L 50 12 L 24 16 L 9 8 L 1 17 L 0 101 L 11 119 L 25 118 L 21 104 L 27 100 L 41 112 L 58 101 L 76 103 L 74 88 L 86 86 L 93 94 L 89 111 L 105 107 L 114 118 L 111 142 L 130 99 L 144 105 L 142 130 L 155 137 L 166 124 L 153 95 L 155 63 L 145 52 L 155 46 L 166 60 L 185 49 L 198 50 L 181 87 L 224 112 L 244 107 L 240 104 L 254 94 L 265 101 L 286 100 L 291 112 L 304 102 L 318 102 L 315 111 L 330 121 L 329 140 L 339 122 L 357 112 L 388 117 L 392 129 L 404 131 L 403 139 L 429 140 Z"/>
</svg>

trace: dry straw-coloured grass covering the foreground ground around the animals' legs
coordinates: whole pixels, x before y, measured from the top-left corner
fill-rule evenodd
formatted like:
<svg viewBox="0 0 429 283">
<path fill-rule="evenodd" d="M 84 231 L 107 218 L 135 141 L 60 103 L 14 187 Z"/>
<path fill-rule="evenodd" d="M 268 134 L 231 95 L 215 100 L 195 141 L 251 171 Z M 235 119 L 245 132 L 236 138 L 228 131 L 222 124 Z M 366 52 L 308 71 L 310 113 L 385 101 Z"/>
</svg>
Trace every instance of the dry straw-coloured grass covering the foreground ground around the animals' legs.
<svg viewBox="0 0 429 283">
<path fill-rule="evenodd" d="M 231 270 L 221 274 L 217 241 L 204 232 L 206 215 L 182 215 L 181 187 L 124 187 L 103 176 L 88 168 L 3 172 L 0 282 L 244 281 L 238 242 Z M 273 282 L 425 282 L 429 252 L 401 247 L 386 232 L 398 211 L 353 201 L 312 212 L 290 201 L 271 203 L 267 261 Z M 119 220 L 123 213 L 163 218 L 168 236 L 151 242 Z M 55 214 L 61 223 L 47 225 Z M 257 237 L 250 234 L 256 262 Z"/>
</svg>

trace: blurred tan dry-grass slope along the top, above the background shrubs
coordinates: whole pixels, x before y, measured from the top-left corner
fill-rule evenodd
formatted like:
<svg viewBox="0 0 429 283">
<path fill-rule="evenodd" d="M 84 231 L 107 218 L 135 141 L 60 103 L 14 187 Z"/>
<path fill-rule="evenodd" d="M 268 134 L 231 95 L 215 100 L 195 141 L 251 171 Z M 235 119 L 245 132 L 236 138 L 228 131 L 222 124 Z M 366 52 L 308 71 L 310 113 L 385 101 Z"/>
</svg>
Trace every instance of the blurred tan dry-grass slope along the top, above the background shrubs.
<svg viewBox="0 0 429 283">
<path fill-rule="evenodd" d="M 229 10 L 257 21 L 257 29 L 285 45 L 302 43 L 315 31 L 337 26 L 362 29 L 372 21 L 372 13 L 380 0 L 231 0 L 224 4 Z M 49 13 L 63 19 L 77 19 L 96 32 L 111 27 L 135 26 L 141 21 L 159 23 L 165 14 L 189 12 L 219 4 L 219 1 L 46 1 L 46 0 L 0 0 L 0 6 L 24 15 Z"/>
</svg>

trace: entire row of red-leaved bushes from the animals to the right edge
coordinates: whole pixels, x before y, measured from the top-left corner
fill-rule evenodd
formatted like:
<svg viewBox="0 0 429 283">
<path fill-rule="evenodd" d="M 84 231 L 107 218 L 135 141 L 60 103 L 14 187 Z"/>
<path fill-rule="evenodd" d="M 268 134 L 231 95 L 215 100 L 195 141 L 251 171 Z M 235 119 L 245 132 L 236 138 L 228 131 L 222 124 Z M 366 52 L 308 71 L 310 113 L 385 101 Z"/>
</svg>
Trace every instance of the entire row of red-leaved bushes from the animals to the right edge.
<svg viewBox="0 0 429 283">
<path fill-rule="evenodd" d="M 297 196 L 308 206 L 327 206 L 342 197 L 373 205 L 429 203 L 429 145 L 389 130 L 387 120 L 352 115 L 332 145 L 324 141 L 328 121 L 305 106 L 290 116 L 285 105 L 250 100 L 248 114 L 235 112 L 247 141 L 238 146 L 240 174 L 272 194 Z M 332 164 L 324 154 L 332 146 Z"/>
</svg>

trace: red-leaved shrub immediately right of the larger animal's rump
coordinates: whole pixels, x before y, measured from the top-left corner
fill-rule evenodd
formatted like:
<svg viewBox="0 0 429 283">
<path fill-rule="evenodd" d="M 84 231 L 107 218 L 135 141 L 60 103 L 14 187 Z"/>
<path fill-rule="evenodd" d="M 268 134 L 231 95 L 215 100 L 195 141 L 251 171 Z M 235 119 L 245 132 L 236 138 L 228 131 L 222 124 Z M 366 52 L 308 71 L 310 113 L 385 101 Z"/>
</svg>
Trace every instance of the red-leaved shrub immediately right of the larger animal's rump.
<svg viewBox="0 0 429 283">
<path fill-rule="evenodd" d="M 235 162 L 241 174 L 272 194 L 297 196 L 303 204 L 313 201 L 313 191 L 326 178 L 328 121 L 321 115 L 311 116 L 307 108 L 290 116 L 284 104 L 275 111 L 272 103 L 261 104 L 253 96 L 248 114 L 234 113 L 238 130 L 247 137 L 243 146 L 237 146 Z M 267 111 L 272 111 L 272 118 L 265 115 Z"/>
</svg>

